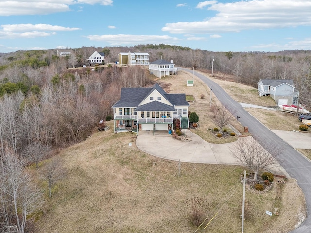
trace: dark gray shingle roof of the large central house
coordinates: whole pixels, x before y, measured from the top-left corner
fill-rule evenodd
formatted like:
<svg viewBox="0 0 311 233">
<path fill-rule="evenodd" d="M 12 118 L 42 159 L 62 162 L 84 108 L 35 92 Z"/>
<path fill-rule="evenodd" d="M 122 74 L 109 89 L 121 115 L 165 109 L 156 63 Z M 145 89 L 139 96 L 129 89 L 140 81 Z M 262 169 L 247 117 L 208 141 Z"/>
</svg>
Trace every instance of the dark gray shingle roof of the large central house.
<svg viewBox="0 0 311 233">
<path fill-rule="evenodd" d="M 173 106 L 174 105 L 185 105 L 188 106 L 189 103 L 186 101 L 185 94 L 167 94 L 157 83 L 153 87 L 144 87 L 144 88 L 122 88 L 121 89 L 121 96 L 120 100 L 116 102 L 112 107 L 113 108 L 130 108 L 130 107 L 137 107 L 146 97 L 157 90 L 163 98 L 166 98 Z M 161 104 L 161 105 L 159 105 Z M 141 110 L 140 107 L 144 106 L 143 108 L 148 108 L 148 110 Z M 152 109 L 150 109 L 152 108 Z M 157 109 L 157 108 L 162 108 Z M 167 109 L 167 110 L 166 110 Z M 172 111 L 174 110 L 173 107 L 160 103 L 154 100 L 151 103 L 141 105 L 137 108 L 138 111 L 152 111 L 152 110 L 159 110 L 159 111 Z"/>
</svg>

